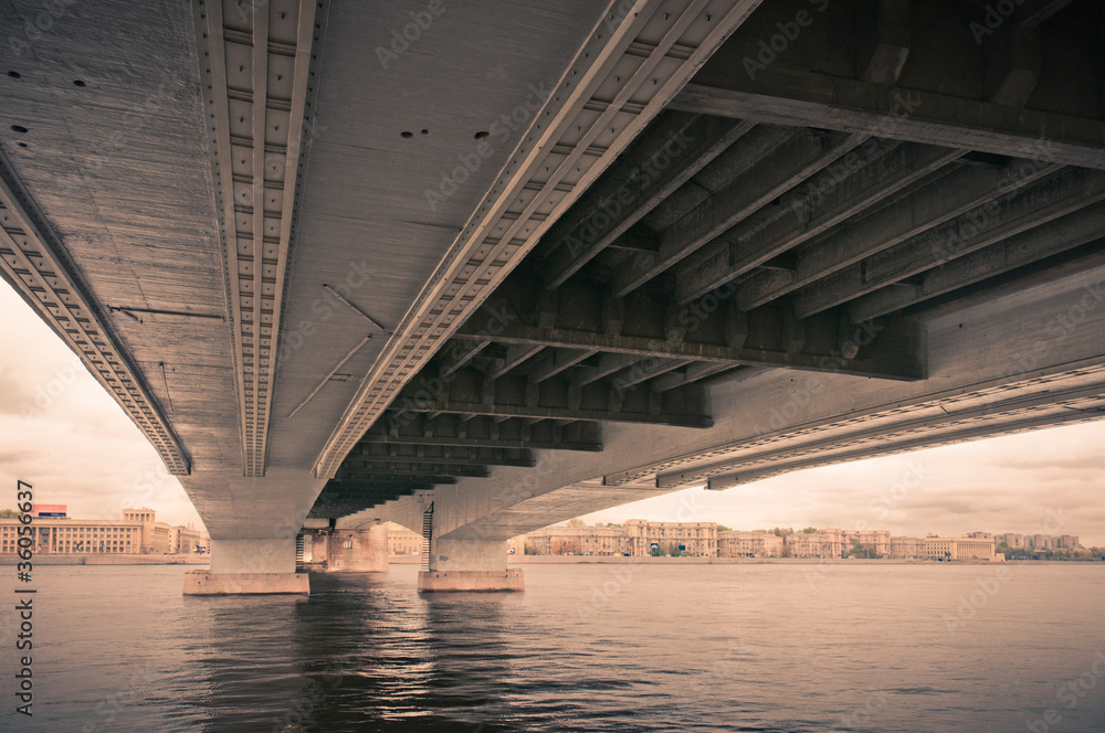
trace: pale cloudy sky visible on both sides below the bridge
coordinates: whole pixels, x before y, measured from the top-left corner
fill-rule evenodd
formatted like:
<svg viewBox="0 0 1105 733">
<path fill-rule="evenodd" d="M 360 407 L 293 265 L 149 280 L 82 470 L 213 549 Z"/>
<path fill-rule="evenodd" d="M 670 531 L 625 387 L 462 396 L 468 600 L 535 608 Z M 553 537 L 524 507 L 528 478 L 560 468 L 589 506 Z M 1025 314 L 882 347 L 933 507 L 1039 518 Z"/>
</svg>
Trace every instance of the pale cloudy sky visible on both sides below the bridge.
<svg viewBox="0 0 1105 733">
<path fill-rule="evenodd" d="M 69 349 L 0 285 L 0 482 L 15 479 L 70 516 L 146 506 L 201 524 L 154 448 Z M 589 514 L 716 521 L 735 529 L 836 527 L 924 537 L 971 530 L 1076 534 L 1105 546 L 1105 422 L 1038 431 L 776 477 L 691 489 Z"/>
</svg>

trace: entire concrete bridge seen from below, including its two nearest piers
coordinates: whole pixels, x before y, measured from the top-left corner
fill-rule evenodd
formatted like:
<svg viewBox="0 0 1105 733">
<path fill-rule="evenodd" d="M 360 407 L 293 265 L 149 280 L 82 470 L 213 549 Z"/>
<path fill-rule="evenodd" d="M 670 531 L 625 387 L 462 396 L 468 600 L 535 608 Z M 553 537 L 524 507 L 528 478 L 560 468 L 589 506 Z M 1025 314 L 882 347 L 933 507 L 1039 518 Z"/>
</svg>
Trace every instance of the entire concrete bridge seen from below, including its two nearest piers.
<svg viewBox="0 0 1105 733">
<path fill-rule="evenodd" d="M 204 592 L 305 589 L 304 522 L 432 506 L 469 587 L 580 513 L 1103 416 L 1095 3 L 41 12 L 0 272 L 180 477 Z"/>
</svg>

